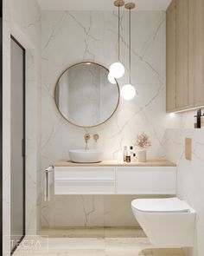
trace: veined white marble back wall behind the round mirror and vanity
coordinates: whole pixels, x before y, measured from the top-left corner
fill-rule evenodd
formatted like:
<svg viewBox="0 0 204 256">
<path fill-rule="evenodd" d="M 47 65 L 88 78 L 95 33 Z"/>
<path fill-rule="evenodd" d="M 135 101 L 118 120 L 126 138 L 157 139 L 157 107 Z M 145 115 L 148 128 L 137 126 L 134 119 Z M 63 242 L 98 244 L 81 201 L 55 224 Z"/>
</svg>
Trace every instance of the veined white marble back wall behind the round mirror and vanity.
<svg viewBox="0 0 204 256">
<path fill-rule="evenodd" d="M 41 169 L 68 158 L 69 149 L 84 148 L 84 134 L 98 133 L 105 160 L 123 157 L 138 133 L 150 136 L 150 159 L 165 158 L 166 128 L 179 127 L 180 115 L 165 113 L 165 12 L 132 12 L 131 81 L 138 96 L 120 99 L 115 115 L 97 128 L 77 128 L 65 121 L 54 104 L 54 85 L 61 71 L 76 62 L 99 62 L 109 68 L 118 60 L 116 11 L 41 12 Z M 129 82 L 128 12 L 121 16 L 121 61 Z M 91 140 L 90 148 L 96 145 Z M 41 177 L 43 179 L 43 175 Z M 138 226 L 126 196 L 52 196 L 41 203 L 41 226 Z M 125 216 L 125 218 L 124 218 Z"/>
</svg>

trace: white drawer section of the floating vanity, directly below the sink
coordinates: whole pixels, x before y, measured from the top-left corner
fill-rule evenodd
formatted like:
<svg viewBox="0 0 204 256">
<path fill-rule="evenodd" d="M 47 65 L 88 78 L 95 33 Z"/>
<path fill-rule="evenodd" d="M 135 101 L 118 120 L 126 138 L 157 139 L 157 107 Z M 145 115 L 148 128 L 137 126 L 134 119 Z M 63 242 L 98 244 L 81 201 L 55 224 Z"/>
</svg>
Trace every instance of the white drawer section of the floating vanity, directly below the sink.
<svg viewBox="0 0 204 256">
<path fill-rule="evenodd" d="M 55 167 L 54 194 L 115 194 L 115 168 Z"/>
</svg>

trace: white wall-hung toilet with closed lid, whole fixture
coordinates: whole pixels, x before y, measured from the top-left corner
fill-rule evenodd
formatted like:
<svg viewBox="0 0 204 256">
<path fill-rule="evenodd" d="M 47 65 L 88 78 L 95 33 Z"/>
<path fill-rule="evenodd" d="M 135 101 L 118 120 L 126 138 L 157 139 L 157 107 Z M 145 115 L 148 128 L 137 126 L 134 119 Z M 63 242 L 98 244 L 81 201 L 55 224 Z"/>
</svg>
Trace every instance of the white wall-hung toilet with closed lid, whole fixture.
<svg viewBox="0 0 204 256">
<path fill-rule="evenodd" d="M 154 246 L 194 245 L 194 209 L 178 198 L 137 199 L 132 211 Z"/>
</svg>

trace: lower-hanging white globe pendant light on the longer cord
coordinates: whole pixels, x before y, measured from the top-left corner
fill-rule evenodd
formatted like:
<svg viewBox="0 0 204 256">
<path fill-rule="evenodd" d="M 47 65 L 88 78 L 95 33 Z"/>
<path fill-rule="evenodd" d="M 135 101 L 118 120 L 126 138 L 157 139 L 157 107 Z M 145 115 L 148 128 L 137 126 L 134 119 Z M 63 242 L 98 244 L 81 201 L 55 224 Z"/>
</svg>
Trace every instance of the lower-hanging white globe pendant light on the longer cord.
<svg viewBox="0 0 204 256">
<path fill-rule="evenodd" d="M 130 83 L 125 84 L 120 94 L 122 98 L 126 101 L 130 101 L 133 99 L 137 93 L 134 86 L 131 84 L 131 10 L 135 8 L 135 3 L 126 3 L 124 5 L 125 9 L 129 10 L 129 75 L 130 75 Z"/>
</svg>

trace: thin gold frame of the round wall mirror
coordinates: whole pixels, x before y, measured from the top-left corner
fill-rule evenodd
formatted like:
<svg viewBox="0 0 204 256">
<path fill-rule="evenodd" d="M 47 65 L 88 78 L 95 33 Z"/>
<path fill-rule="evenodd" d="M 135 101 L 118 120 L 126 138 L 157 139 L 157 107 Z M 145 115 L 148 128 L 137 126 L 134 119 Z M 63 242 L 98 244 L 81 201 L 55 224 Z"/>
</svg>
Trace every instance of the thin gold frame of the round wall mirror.
<svg viewBox="0 0 204 256">
<path fill-rule="evenodd" d="M 61 76 L 64 75 L 64 73 L 65 73 L 68 69 L 71 69 L 71 68 L 73 68 L 73 67 L 75 67 L 75 66 L 79 66 L 79 65 L 82 65 L 82 64 L 87 64 L 87 63 L 99 65 L 100 67 L 106 69 L 106 70 L 109 72 L 109 69 L 105 68 L 105 66 L 103 66 L 103 65 L 101 65 L 101 64 L 99 64 L 99 63 L 97 63 L 97 62 L 78 62 L 78 63 L 75 63 L 75 64 L 69 66 L 67 69 L 65 69 L 65 70 L 61 73 L 61 75 L 58 77 L 57 82 L 55 83 L 55 86 L 54 86 L 54 103 L 55 103 L 56 108 L 58 109 L 58 112 L 61 114 L 61 116 L 62 116 L 66 121 L 68 121 L 70 124 L 72 124 L 72 125 L 74 125 L 74 126 L 76 126 L 76 127 L 79 127 L 79 128 L 94 128 L 94 127 L 98 127 L 99 125 L 104 124 L 106 121 L 108 121 L 109 119 L 112 118 L 112 115 L 115 114 L 115 112 L 116 112 L 116 110 L 117 110 L 117 108 L 118 108 L 119 99 L 120 99 L 120 89 L 119 89 L 118 81 L 115 79 L 115 80 L 116 80 L 116 84 L 113 84 L 112 86 L 117 86 L 117 87 L 118 87 L 118 102 L 117 102 L 116 108 L 115 108 L 115 109 L 113 110 L 113 112 L 112 112 L 112 115 L 110 115 L 107 119 L 105 119 L 105 121 L 102 121 L 102 122 L 100 122 L 99 124 L 92 125 L 92 126 L 81 126 L 81 125 L 78 125 L 78 124 L 73 123 L 72 121 L 69 121 L 64 115 L 62 115 L 61 110 L 60 110 L 60 108 L 58 107 L 58 105 L 57 105 L 57 103 L 56 103 L 56 99 L 55 99 L 56 89 L 57 89 L 57 86 L 58 86 L 58 82 L 60 81 Z"/>
</svg>

